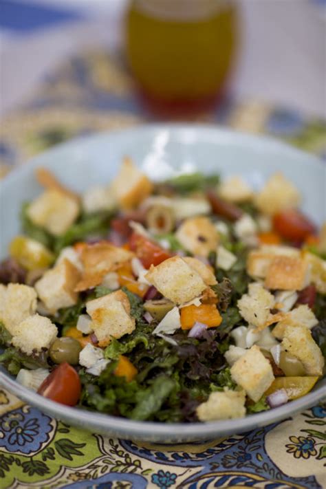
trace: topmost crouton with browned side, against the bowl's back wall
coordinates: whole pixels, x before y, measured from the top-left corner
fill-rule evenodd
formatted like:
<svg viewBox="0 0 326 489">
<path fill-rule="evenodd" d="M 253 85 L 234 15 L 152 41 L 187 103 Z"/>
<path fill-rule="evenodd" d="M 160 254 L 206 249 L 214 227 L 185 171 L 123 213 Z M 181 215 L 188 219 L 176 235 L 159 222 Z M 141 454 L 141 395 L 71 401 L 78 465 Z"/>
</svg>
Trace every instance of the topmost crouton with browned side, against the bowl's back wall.
<svg viewBox="0 0 326 489">
<path fill-rule="evenodd" d="M 113 196 L 122 208 L 138 206 L 153 191 L 153 184 L 130 158 L 124 158 L 120 172 L 110 186 Z"/>
</svg>

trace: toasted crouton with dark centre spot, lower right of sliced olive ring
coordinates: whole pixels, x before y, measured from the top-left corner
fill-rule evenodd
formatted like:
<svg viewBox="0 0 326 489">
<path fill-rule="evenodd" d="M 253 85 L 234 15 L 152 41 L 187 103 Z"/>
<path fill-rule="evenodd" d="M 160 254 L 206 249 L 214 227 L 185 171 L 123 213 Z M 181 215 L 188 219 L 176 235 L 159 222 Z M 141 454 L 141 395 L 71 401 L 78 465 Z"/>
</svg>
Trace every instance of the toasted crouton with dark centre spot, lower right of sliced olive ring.
<svg viewBox="0 0 326 489">
<path fill-rule="evenodd" d="M 186 250 L 201 257 L 208 257 L 219 243 L 219 233 L 208 217 L 186 219 L 175 236 Z"/>
</svg>

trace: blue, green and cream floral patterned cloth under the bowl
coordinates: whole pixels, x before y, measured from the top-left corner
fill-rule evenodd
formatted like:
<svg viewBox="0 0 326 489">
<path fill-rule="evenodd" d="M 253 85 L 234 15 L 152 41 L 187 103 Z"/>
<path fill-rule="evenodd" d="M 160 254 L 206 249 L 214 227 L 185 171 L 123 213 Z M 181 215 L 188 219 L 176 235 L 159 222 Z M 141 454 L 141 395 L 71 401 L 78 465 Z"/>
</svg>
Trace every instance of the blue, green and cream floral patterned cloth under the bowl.
<svg viewBox="0 0 326 489">
<path fill-rule="evenodd" d="M 151 120 L 124 67 L 103 52 L 70 60 L 1 124 L 5 175 L 75 135 Z M 326 125 L 257 101 L 227 99 L 196 122 L 270 133 L 325 157 Z M 206 444 L 110 439 L 54 420 L 0 390 L 0 488 L 326 488 L 326 406 Z"/>
</svg>

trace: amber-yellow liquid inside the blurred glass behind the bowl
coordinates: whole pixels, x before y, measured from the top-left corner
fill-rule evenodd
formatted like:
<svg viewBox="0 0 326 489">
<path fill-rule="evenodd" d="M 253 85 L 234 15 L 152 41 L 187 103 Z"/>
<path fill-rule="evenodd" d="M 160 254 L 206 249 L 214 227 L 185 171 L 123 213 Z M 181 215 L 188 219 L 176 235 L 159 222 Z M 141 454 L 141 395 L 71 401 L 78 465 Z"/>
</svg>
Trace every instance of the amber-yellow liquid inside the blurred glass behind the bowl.
<svg viewBox="0 0 326 489">
<path fill-rule="evenodd" d="M 127 13 L 127 58 L 148 96 L 167 102 L 198 100 L 215 96 L 224 86 L 236 34 L 232 2 L 208 17 L 171 19 L 151 15 L 133 1 Z"/>
</svg>

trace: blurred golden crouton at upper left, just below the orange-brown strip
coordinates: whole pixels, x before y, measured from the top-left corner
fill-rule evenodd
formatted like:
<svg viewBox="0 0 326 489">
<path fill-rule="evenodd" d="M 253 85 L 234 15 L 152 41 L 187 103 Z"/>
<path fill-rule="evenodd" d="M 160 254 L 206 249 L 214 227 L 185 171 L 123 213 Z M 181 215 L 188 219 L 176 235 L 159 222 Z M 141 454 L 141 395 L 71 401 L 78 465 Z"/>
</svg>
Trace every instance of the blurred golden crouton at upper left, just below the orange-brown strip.
<svg viewBox="0 0 326 489">
<path fill-rule="evenodd" d="M 74 224 L 79 214 L 79 204 L 65 193 L 47 190 L 28 206 L 27 214 L 34 224 L 59 236 Z"/>
</svg>

